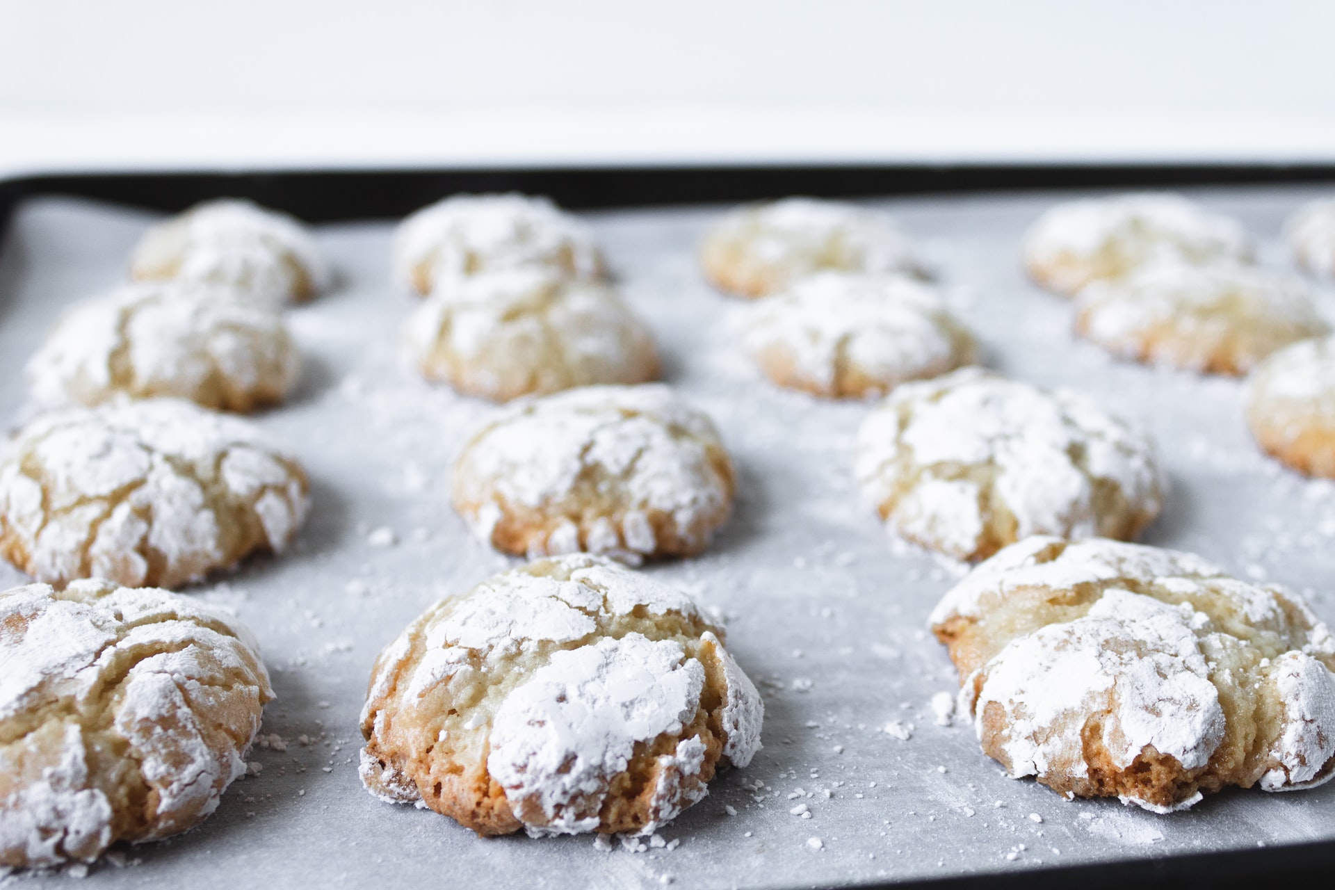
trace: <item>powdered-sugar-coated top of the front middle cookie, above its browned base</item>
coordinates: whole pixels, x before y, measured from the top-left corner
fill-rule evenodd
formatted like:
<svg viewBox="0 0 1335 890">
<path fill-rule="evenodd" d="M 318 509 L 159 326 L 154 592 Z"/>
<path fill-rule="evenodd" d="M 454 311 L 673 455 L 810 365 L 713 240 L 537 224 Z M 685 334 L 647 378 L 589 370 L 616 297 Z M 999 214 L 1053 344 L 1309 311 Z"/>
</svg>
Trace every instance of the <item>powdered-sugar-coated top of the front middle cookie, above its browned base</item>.
<svg viewBox="0 0 1335 890">
<path fill-rule="evenodd" d="M 721 636 L 690 598 L 651 578 L 586 554 L 539 560 L 442 600 L 410 626 L 376 662 L 363 726 L 372 746 L 390 745 L 382 733 L 437 719 L 417 703 L 453 690 L 447 702 L 462 710 L 445 718 L 442 743 L 471 751 L 470 734 L 486 739 L 487 774 L 530 834 L 597 829 L 637 747 L 673 738 L 657 758 L 643 829 L 651 831 L 704 795 L 693 782 L 706 745 L 686 726 L 706 685 L 718 683 L 713 694 L 724 699 L 722 755 L 745 766 L 760 749 L 764 706 Z M 718 659 L 717 679 L 702 658 Z M 386 715 L 394 707 L 410 710 Z"/>
</svg>

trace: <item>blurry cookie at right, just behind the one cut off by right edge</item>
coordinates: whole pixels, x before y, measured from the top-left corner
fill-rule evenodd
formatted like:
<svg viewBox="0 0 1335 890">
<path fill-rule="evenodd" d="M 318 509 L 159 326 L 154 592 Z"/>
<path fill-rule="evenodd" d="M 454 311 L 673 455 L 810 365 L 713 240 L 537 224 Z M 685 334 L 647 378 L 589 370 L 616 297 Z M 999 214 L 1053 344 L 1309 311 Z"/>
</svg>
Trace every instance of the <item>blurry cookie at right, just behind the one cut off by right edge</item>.
<svg viewBox="0 0 1335 890">
<path fill-rule="evenodd" d="M 1159 263 L 1076 296 L 1076 331 L 1113 355 L 1203 374 L 1247 374 L 1330 324 L 1307 286 L 1258 267 Z"/>
</svg>

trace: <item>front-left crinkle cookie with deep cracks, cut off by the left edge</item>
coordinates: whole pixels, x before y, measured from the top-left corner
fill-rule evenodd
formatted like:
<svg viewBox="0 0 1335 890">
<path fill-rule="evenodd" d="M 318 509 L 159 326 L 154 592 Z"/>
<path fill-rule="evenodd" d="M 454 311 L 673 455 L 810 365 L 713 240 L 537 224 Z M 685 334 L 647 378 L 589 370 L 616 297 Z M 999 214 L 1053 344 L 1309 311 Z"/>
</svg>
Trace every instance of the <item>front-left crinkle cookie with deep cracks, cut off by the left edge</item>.
<svg viewBox="0 0 1335 890">
<path fill-rule="evenodd" d="M 274 698 L 235 619 L 166 590 L 0 592 L 0 866 L 91 862 L 218 809 Z"/>
</svg>

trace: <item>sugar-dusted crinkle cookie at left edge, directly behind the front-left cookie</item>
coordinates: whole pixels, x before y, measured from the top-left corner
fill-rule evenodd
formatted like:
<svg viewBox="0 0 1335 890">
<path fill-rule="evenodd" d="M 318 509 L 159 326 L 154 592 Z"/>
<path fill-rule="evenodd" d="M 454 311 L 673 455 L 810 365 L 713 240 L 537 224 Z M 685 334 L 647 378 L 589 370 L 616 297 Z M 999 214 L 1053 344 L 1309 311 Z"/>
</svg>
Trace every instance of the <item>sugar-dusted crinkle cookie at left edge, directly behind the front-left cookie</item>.
<svg viewBox="0 0 1335 890">
<path fill-rule="evenodd" d="M 306 474 L 259 427 L 180 399 L 43 415 L 0 459 L 0 552 L 37 580 L 176 587 L 280 552 Z"/>
</svg>

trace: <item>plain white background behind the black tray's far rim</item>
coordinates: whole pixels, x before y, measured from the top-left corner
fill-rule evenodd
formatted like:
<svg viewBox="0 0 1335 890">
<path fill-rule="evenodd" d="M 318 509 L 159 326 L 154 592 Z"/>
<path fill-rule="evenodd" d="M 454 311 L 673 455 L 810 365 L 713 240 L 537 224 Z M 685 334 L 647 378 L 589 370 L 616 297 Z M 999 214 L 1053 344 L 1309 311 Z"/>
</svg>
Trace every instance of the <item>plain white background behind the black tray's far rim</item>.
<svg viewBox="0 0 1335 890">
<path fill-rule="evenodd" d="M 1322 0 L 0 0 L 0 175 L 1332 161 L 1331 35 Z"/>
</svg>

